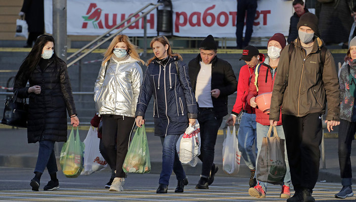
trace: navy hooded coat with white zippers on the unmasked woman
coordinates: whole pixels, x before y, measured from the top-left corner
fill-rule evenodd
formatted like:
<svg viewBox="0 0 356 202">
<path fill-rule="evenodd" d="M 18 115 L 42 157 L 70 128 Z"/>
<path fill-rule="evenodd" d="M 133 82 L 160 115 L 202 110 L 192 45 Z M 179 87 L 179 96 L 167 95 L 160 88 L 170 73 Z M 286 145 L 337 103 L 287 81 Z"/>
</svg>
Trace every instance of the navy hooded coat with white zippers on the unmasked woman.
<svg viewBox="0 0 356 202">
<path fill-rule="evenodd" d="M 178 62 L 178 71 L 175 62 Z M 153 60 L 148 65 L 138 95 L 135 116 L 146 112 L 154 98 L 155 135 L 180 135 L 188 127 L 188 118 L 197 118 L 197 105 L 191 88 L 188 67 L 177 57 L 171 57 L 165 66 Z"/>
</svg>

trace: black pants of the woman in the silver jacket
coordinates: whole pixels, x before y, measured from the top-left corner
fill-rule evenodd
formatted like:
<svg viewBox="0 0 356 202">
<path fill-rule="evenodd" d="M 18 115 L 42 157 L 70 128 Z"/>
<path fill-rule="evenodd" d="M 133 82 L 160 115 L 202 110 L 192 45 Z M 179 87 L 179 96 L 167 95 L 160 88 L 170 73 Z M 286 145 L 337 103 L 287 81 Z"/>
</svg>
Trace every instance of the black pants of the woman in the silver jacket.
<svg viewBox="0 0 356 202">
<path fill-rule="evenodd" d="M 111 164 L 110 167 L 116 168 L 116 177 L 126 177 L 122 166 L 128 151 L 130 134 L 134 128 L 135 119 L 103 115 L 102 122 L 102 141 L 109 160 L 108 163 Z"/>
</svg>

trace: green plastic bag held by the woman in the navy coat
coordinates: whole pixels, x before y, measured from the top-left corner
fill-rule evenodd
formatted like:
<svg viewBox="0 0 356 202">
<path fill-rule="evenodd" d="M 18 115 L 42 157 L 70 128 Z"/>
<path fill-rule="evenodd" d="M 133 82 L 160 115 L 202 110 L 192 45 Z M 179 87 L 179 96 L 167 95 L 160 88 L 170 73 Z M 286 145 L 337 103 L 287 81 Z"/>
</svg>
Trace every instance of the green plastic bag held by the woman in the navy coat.
<svg viewBox="0 0 356 202">
<path fill-rule="evenodd" d="M 144 124 L 136 129 L 123 164 L 124 172 L 146 173 L 151 171 L 151 162 Z"/>
</svg>

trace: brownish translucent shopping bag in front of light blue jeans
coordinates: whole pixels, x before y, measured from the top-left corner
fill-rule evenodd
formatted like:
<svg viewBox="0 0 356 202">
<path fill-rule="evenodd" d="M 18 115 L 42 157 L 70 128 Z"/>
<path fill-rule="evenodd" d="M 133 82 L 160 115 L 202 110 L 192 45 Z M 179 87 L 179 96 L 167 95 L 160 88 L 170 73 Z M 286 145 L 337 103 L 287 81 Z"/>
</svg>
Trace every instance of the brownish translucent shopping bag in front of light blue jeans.
<svg viewBox="0 0 356 202">
<path fill-rule="evenodd" d="M 270 136 L 273 127 L 273 137 Z M 271 184 L 283 184 L 287 167 L 284 161 L 284 139 L 280 139 L 275 126 L 270 125 L 267 137 L 262 140 L 262 147 L 257 158 L 257 180 Z"/>
</svg>

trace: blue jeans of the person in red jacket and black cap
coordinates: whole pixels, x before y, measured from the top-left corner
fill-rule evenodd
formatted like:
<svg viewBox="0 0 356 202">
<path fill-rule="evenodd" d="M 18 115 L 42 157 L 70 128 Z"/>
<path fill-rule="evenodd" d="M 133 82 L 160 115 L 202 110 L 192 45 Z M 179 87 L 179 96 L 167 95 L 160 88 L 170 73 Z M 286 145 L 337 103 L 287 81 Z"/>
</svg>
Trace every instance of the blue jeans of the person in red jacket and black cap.
<svg viewBox="0 0 356 202">
<path fill-rule="evenodd" d="M 242 112 L 241 112 L 242 113 Z M 256 169 L 257 143 L 256 143 L 256 114 L 243 113 L 241 116 L 240 127 L 237 131 L 238 147 L 241 156 L 247 167 L 251 170 Z M 256 154 L 252 151 L 255 143 Z"/>
</svg>

